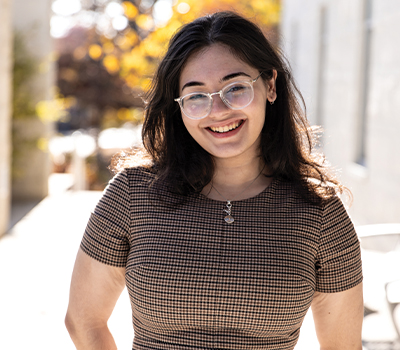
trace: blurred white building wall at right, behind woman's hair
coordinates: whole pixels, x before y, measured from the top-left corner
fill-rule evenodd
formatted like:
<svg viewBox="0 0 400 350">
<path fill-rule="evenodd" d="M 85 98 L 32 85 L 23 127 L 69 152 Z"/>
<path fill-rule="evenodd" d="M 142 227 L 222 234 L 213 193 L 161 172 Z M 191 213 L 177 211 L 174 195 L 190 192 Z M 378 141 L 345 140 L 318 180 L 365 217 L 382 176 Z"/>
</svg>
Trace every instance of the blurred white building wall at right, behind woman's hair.
<svg viewBox="0 0 400 350">
<path fill-rule="evenodd" d="M 400 222 L 400 1 L 284 0 L 282 10 L 283 49 L 353 192 L 353 220 Z"/>
</svg>

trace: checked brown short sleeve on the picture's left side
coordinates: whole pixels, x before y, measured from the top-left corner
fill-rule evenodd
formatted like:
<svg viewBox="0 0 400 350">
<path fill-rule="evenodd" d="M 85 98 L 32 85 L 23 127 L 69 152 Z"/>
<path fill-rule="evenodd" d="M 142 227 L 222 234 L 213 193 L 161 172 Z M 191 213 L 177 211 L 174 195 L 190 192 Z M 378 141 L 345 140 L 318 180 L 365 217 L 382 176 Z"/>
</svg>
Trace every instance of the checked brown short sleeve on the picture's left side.
<svg viewBox="0 0 400 350">
<path fill-rule="evenodd" d="M 90 216 L 81 249 L 92 258 L 116 267 L 125 267 L 129 254 L 130 200 L 125 171 L 108 184 Z"/>
</svg>

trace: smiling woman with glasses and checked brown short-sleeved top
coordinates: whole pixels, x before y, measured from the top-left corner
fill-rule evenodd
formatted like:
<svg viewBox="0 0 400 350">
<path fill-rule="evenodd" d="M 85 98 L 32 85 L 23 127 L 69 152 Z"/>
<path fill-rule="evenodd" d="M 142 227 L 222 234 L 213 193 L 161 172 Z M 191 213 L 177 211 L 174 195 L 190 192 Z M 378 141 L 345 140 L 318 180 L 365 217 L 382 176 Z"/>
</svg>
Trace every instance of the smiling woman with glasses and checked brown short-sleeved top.
<svg viewBox="0 0 400 350">
<path fill-rule="evenodd" d="M 133 349 L 293 349 L 310 305 L 321 349 L 361 349 L 359 243 L 295 91 L 236 14 L 171 39 L 143 126 L 152 164 L 110 182 L 77 256 L 78 349 L 115 349 L 125 284 Z"/>
</svg>

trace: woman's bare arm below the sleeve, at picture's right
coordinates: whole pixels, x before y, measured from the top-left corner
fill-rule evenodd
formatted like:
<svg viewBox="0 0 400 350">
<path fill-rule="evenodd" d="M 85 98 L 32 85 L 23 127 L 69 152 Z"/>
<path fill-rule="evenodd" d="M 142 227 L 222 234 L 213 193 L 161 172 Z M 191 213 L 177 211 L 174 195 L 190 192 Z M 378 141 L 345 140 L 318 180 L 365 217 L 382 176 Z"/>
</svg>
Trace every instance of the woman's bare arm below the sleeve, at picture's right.
<svg viewBox="0 0 400 350">
<path fill-rule="evenodd" d="M 362 283 L 339 293 L 315 292 L 311 309 L 321 350 L 362 349 Z"/>
</svg>

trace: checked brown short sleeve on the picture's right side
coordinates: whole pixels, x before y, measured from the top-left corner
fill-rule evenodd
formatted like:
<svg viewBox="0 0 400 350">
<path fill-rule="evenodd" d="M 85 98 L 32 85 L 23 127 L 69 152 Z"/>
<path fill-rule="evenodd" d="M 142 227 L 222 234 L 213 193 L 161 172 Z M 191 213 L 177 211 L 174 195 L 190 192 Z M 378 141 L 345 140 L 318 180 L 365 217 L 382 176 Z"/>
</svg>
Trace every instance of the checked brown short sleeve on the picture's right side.
<svg viewBox="0 0 400 350">
<path fill-rule="evenodd" d="M 361 283 L 360 242 L 353 223 L 337 197 L 323 210 L 316 260 L 316 290 L 336 293 Z"/>
</svg>

